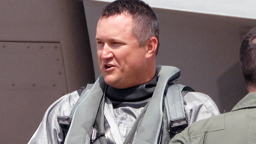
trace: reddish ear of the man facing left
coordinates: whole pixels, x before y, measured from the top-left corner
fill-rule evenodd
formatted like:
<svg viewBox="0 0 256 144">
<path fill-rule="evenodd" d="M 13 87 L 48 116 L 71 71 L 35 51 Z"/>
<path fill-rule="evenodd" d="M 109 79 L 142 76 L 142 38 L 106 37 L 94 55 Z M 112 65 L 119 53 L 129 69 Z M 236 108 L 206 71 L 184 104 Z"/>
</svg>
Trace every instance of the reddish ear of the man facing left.
<svg viewBox="0 0 256 144">
<path fill-rule="evenodd" d="M 151 37 L 148 39 L 146 58 L 150 58 L 153 55 L 156 55 L 157 45 L 158 45 L 158 40 L 156 37 Z"/>
</svg>

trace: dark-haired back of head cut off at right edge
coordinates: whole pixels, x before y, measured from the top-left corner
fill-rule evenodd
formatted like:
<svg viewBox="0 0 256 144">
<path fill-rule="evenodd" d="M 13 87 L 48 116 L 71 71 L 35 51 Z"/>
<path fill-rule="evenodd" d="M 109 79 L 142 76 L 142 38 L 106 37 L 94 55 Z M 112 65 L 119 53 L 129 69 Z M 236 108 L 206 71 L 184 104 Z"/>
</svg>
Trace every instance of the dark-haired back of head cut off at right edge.
<svg viewBox="0 0 256 144">
<path fill-rule="evenodd" d="M 256 87 L 256 28 L 244 36 L 239 57 L 247 87 Z"/>
</svg>

